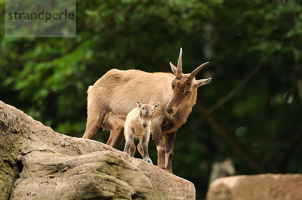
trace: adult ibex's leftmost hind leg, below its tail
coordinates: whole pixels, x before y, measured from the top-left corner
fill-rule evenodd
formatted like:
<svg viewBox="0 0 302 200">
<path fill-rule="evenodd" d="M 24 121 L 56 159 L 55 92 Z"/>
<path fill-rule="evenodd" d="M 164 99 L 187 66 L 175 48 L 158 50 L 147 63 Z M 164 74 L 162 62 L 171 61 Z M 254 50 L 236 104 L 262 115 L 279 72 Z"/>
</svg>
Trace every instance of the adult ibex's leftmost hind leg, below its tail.
<svg viewBox="0 0 302 200">
<path fill-rule="evenodd" d="M 96 101 L 88 101 L 87 124 L 83 138 L 93 139 L 102 126 L 106 116 L 106 109 L 100 108 Z"/>
</svg>

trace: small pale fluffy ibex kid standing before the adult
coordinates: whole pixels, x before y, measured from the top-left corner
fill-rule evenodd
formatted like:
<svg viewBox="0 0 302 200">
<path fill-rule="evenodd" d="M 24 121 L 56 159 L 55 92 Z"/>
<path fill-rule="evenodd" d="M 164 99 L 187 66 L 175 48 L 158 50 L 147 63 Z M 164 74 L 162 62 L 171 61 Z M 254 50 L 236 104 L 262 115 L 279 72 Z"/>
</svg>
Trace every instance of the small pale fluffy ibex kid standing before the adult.
<svg viewBox="0 0 302 200">
<path fill-rule="evenodd" d="M 142 156 L 142 160 L 152 163 L 148 153 L 148 142 L 150 138 L 151 122 L 154 110 L 160 106 L 161 103 L 157 103 L 154 106 L 147 104 L 141 104 L 136 98 L 137 107 L 133 109 L 126 118 L 124 135 L 125 135 L 125 149 L 124 152 L 132 156 L 135 153 L 135 144 L 133 138 L 139 139 L 137 145 L 138 152 Z"/>
</svg>

